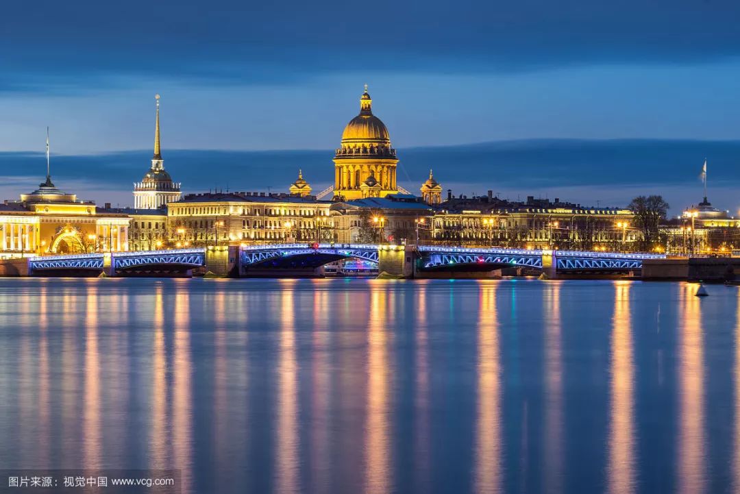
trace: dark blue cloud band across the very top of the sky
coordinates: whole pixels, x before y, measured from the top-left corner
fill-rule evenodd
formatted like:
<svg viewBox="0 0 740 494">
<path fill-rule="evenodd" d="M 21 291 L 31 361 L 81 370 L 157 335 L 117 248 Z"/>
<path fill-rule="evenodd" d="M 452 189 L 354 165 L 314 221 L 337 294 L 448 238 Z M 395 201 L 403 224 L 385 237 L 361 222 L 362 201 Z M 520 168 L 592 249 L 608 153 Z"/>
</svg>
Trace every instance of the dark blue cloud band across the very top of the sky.
<svg viewBox="0 0 740 494">
<path fill-rule="evenodd" d="M 733 1 L 10 2 L 0 91 L 155 76 L 286 84 L 346 72 L 511 72 L 740 55 Z"/>
</svg>

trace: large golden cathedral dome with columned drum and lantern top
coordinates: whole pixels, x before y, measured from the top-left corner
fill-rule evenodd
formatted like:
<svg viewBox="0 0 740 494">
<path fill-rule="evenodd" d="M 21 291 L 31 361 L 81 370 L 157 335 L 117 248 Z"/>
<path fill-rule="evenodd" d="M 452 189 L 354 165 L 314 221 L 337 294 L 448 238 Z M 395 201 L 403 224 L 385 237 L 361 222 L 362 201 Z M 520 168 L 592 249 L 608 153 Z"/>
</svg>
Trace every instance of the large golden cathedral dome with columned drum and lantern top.
<svg viewBox="0 0 740 494">
<path fill-rule="evenodd" d="M 360 96 L 360 115 L 344 128 L 334 156 L 334 200 L 397 194 L 397 163 L 386 124 L 372 114 L 366 85 Z"/>
</svg>

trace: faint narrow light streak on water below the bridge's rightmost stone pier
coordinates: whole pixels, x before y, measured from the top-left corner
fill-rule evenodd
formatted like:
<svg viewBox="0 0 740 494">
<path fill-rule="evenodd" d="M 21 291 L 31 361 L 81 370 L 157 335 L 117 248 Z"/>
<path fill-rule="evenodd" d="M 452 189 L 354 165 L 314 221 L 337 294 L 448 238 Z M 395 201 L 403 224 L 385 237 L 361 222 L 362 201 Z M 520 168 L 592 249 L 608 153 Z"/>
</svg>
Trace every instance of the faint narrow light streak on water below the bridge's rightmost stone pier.
<svg viewBox="0 0 740 494">
<path fill-rule="evenodd" d="M 546 493 L 562 492 L 562 328 L 560 287 L 545 291 L 545 475 Z"/>
</svg>

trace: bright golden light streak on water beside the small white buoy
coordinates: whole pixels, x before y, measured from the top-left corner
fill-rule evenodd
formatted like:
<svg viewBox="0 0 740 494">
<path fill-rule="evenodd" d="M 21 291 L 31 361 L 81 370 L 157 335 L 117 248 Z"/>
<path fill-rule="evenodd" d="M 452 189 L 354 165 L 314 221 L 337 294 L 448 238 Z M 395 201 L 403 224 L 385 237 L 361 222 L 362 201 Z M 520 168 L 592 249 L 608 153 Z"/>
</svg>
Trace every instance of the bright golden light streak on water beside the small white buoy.
<svg viewBox="0 0 740 494">
<path fill-rule="evenodd" d="M 703 493 L 704 478 L 704 352 L 702 308 L 696 285 L 682 285 L 679 311 L 679 435 L 680 493 Z"/>
</svg>

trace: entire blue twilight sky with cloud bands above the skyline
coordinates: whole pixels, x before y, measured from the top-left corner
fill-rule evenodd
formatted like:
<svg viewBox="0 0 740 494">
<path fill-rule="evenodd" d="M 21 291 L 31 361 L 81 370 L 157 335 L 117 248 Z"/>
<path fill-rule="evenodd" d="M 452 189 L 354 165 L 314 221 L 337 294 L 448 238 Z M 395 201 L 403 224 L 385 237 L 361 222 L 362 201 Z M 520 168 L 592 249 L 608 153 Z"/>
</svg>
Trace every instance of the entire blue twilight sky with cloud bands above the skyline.
<svg viewBox="0 0 740 494">
<path fill-rule="evenodd" d="M 706 156 L 710 177 L 724 180 L 715 203 L 740 206 L 730 193 L 740 153 L 727 152 L 740 135 L 736 1 L 40 0 L 3 10 L 2 197 L 43 175 L 29 152 L 43 152 L 48 125 L 65 189 L 130 202 L 148 166 L 156 92 L 165 166 L 186 191 L 207 189 L 203 173 L 215 167 L 224 188 L 285 189 L 265 178 L 277 162 L 328 184 L 367 83 L 409 188 L 434 166 L 456 193 L 621 204 L 647 183 L 679 209 L 701 193 Z M 484 142 L 495 144 L 468 146 Z M 521 180 L 500 159 L 506 143 L 536 158 Z M 552 146 L 559 152 L 542 152 Z M 573 156 L 565 169 L 563 149 Z M 593 173 L 607 164 L 622 175 Z M 605 196 L 611 186 L 621 192 Z"/>
</svg>

